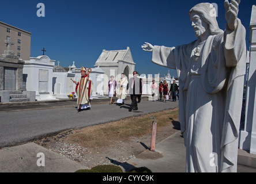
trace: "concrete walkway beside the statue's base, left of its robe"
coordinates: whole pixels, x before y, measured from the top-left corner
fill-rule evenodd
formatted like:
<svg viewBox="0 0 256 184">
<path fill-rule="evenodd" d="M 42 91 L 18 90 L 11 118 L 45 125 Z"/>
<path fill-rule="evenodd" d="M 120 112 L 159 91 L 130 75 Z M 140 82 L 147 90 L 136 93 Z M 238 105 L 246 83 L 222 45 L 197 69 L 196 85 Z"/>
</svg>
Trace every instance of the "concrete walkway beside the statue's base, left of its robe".
<svg viewBox="0 0 256 184">
<path fill-rule="evenodd" d="M 155 152 L 146 150 L 121 166 L 125 171 L 145 166 L 153 173 L 185 173 L 186 148 L 180 132 L 157 143 Z"/>
</svg>

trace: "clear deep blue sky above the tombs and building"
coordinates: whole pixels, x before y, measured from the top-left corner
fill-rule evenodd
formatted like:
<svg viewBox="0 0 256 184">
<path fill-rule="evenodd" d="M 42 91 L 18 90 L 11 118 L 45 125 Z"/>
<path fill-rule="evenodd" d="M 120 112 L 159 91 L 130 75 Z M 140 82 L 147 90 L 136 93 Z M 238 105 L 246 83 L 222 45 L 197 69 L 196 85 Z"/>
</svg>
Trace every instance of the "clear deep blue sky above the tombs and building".
<svg viewBox="0 0 256 184">
<path fill-rule="evenodd" d="M 45 17 L 37 17 L 37 3 L 44 3 Z M 176 45 L 195 40 L 189 10 L 204 1 L 189 0 L 1 0 L 0 21 L 27 30 L 31 56 L 46 55 L 68 67 L 93 67 L 103 49 L 130 47 L 135 70 L 140 74 L 167 74 L 168 68 L 152 63 L 152 54 L 141 49 L 144 42 Z M 217 3 L 219 27 L 225 29 L 224 0 Z M 239 18 L 247 30 L 254 1 L 241 0 Z M 175 70 L 170 70 L 176 76 Z"/>
</svg>

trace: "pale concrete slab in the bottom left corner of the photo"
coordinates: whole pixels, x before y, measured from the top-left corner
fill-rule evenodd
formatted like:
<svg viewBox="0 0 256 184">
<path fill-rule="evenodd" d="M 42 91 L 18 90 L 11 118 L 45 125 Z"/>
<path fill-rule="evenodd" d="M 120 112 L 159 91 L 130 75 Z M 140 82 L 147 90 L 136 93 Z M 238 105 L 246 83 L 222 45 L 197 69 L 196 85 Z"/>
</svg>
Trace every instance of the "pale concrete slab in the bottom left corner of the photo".
<svg viewBox="0 0 256 184">
<path fill-rule="evenodd" d="M 40 166 L 43 164 L 43 155 L 37 157 L 40 153 L 44 154 L 44 166 Z M 81 164 L 35 143 L 0 150 L 0 173 L 74 173 L 84 168 Z"/>
</svg>

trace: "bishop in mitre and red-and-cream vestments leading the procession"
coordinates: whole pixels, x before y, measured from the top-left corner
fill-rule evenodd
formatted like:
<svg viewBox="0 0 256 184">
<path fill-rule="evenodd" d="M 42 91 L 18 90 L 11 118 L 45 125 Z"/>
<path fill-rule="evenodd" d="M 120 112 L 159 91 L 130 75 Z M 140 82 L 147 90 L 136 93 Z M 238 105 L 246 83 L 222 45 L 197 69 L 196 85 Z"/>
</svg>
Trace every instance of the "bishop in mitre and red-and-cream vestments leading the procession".
<svg viewBox="0 0 256 184">
<path fill-rule="evenodd" d="M 81 78 L 79 81 L 73 81 L 76 83 L 76 93 L 77 93 L 77 111 L 80 112 L 82 109 L 90 109 L 91 102 L 90 97 L 92 95 L 93 83 L 89 75 L 86 75 L 86 68 L 81 67 Z"/>
</svg>

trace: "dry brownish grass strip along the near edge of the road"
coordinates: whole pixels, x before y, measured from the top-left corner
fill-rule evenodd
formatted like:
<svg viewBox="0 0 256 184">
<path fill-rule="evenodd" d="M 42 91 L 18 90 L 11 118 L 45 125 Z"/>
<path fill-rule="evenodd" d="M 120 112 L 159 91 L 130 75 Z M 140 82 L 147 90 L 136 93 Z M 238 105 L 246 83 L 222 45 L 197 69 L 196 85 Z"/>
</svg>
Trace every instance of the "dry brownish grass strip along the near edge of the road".
<svg viewBox="0 0 256 184">
<path fill-rule="evenodd" d="M 164 110 L 163 112 L 150 113 L 137 117 L 124 118 L 119 121 L 108 122 L 107 124 L 94 125 L 77 130 L 68 139 L 84 147 L 106 147 L 115 141 L 127 140 L 130 137 L 138 137 L 150 134 L 152 121 L 157 121 L 157 132 L 164 127 L 178 121 L 178 108 Z"/>
</svg>

